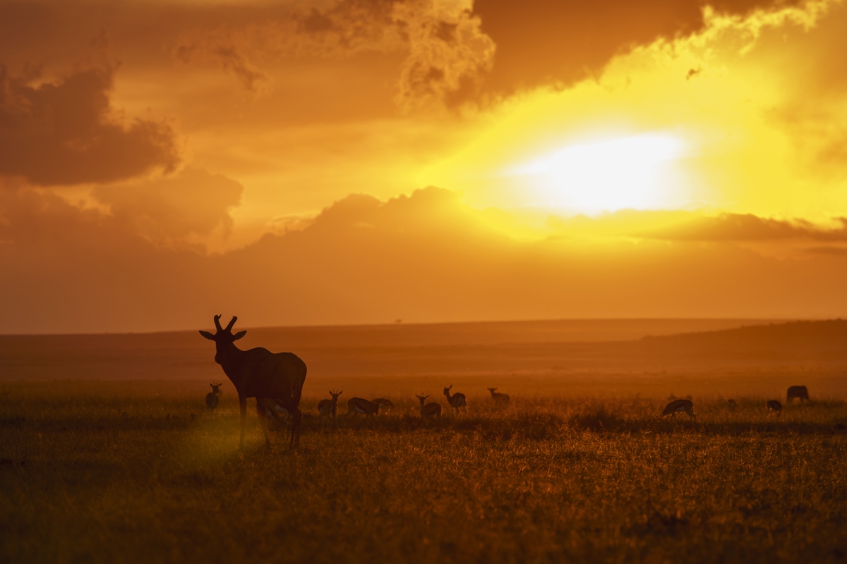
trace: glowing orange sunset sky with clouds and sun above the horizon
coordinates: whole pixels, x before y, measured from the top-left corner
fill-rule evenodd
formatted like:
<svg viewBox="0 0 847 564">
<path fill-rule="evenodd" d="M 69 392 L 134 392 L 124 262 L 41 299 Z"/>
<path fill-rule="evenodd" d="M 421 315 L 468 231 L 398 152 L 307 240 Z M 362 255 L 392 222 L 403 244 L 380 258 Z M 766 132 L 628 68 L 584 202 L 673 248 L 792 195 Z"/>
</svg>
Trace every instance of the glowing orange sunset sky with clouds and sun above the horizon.
<svg viewBox="0 0 847 564">
<path fill-rule="evenodd" d="M 847 315 L 847 5 L 0 0 L 0 332 Z"/>
</svg>

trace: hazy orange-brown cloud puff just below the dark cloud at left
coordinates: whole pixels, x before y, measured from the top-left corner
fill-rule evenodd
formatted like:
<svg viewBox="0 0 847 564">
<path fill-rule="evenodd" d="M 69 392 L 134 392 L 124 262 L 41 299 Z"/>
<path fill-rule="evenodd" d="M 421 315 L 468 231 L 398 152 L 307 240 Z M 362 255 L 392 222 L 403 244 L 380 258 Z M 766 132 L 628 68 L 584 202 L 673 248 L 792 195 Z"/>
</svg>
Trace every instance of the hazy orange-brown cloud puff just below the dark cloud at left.
<svg viewBox="0 0 847 564">
<path fill-rule="evenodd" d="M 158 243 L 176 244 L 191 235 L 232 230 L 231 208 L 243 187 L 222 174 L 186 168 L 173 177 L 99 186 L 92 195 L 108 205 L 122 225 Z"/>
</svg>

